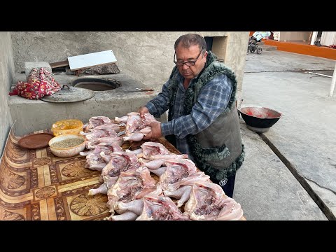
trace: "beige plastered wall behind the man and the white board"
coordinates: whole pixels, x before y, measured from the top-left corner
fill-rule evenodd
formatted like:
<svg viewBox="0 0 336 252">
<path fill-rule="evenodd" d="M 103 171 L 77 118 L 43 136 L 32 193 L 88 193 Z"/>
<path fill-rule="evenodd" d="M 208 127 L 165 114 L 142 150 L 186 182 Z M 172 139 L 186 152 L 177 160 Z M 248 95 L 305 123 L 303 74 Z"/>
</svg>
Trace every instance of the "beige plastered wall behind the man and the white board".
<svg viewBox="0 0 336 252">
<path fill-rule="evenodd" d="M 174 66 L 174 42 L 188 32 L 190 31 L 11 32 L 15 71 L 25 71 L 25 62 L 52 63 L 66 60 L 69 56 L 113 50 L 121 71 L 146 85 L 161 86 L 169 78 Z M 216 37 L 213 51 L 235 71 L 239 96 L 244 75 L 248 31 L 191 32 Z"/>
</svg>

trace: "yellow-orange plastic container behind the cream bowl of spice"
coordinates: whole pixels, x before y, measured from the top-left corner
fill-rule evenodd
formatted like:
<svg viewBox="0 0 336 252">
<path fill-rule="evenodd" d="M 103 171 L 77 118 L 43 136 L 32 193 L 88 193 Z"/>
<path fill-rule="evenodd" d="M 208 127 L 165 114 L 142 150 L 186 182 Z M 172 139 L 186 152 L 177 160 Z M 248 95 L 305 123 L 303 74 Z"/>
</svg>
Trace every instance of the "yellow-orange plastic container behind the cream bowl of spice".
<svg viewBox="0 0 336 252">
<path fill-rule="evenodd" d="M 51 127 L 55 137 L 61 134 L 79 134 L 81 131 L 83 131 L 83 122 L 77 119 L 59 120 Z"/>
</svg>

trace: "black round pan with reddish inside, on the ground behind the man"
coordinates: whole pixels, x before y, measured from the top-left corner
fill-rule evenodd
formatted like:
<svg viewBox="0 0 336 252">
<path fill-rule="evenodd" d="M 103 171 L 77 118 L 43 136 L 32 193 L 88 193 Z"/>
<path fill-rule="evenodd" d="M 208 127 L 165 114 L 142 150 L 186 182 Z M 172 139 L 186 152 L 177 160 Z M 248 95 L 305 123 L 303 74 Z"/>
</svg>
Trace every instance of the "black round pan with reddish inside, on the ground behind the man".
<svg viewBox="0 0 336 252">
<path fill-rule="evenodd" d="M 263 107 L 244 107 L 240 109 L 246 125 L 258 128 L 272 127 L 282 116 L 278 111 Z"/>
</svg>

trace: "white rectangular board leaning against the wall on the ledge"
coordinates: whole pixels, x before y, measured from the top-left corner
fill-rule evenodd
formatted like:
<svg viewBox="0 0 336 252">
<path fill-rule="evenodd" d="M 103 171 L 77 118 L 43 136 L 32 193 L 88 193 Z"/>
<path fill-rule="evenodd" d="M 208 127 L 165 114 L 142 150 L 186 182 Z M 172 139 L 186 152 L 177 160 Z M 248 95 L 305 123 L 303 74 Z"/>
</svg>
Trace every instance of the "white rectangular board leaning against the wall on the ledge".
<svg viewBox="0 0 336 252">
<path fill-rule="evenodd" d="M 70 70 L 85 69 L 90 66 L 99 66 L 103 64 L 111 64 L 117 62 L 112 50 L 102 52 L 87 53 L 85 55 L 77 55 L 68 57 Z"/>
</svg>

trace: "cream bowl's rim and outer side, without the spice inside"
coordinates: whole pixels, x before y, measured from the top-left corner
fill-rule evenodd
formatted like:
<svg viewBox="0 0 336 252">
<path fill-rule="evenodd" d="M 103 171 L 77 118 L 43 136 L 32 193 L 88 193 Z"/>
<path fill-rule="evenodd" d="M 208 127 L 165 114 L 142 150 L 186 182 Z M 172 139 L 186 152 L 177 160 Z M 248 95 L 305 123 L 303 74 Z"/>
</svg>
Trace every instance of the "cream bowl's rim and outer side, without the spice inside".
<svg viewBox="0 0 336 252">
<path fill-rule="evenodd" d="M 58 141 L 66 140 L 66 139 L 83 139 L 83 143 L 78 146 L 73 146 L 70 148 L 55 148 L 52 147 L 52 144 L 55 144 Z M 75 155 L 78 155 L 80 151 L 85 149 L 85 137 L 80 134 L 62 134 L 57 137 L 53 137 L 49 141 L 49 147 L 52 154 L 56 155 L 59 158 L 70 158 Z"/>
</svg>

